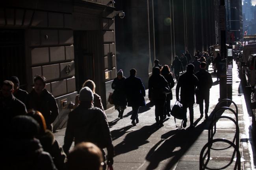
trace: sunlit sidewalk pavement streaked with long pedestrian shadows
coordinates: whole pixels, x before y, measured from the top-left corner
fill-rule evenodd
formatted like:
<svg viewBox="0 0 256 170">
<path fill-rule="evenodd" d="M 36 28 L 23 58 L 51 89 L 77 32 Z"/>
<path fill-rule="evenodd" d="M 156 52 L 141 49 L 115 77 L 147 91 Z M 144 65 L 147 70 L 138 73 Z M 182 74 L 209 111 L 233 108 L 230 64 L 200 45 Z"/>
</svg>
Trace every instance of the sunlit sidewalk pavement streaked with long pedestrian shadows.
<svg viewBox="0 0 256 170">
<path fill-rule="evenodd" d="M 212 68 L 210 68 L 212 69 Z M 219 84 L 213 71 L 210 71 L 213 77 L 213 86 L 210 91 L 210 107 L 208 115 L 215 108 L 219 99 Z M 175 88 L 173 91 L 173 100 L 171 107 L 175 103 Z M 236 64 L 233 68 L 233 93 L 232 99 L 238 107 L 239 122 L 239 151 L 241 154 L 241 169 L 254 170 L 252 152 L 252 138 L 249 133 L 249 118 L 243 90 Z M 187 113 L 187 128 L 176 128 L 174 118 L 167 117 L 164 126 L 158 128 L 155 124 L 154 106 L 145 97 L 147 106 L 139 109 L 139 123 L 132 126 L 130 116 L 132 109 L 128 107 L 124 111 L 124 118 L 118 119 L 118 112 L 114 108 L 106 110 L 109 127 L 111 130 L 113 144 L 115 146 L 114 170 L 198 170 L 199 155 L 202 147 L 208 142 L 208 126 L 211 119 L 200 119 L 199 105 L 194 104 L 194 125 L 195 128 L 189 128 L 189 111 Z M 234 105 L 230 108 L 234 109 Z M 235 119 L 233 113 L 225 111 L 222 115 L 230 116 Z M 181 121 L 176 121 L 180 126 Z M 236 126 L 227 119 L 220 119 L 217 122 L 216 138 L 225 138 L 233 141 Z M 64 141 L 65 129 L 54 133 L 59 144 L 62 146 Z M 226 148 L 223 143 L 213 145 L 213 148 Z M 208 163 L 209 168 L 220 168 L 230 162 L 234 149 L 211 150 L 211 160 Z M 234 169 L 232 163 L 226 169 Z"/>
</svg>

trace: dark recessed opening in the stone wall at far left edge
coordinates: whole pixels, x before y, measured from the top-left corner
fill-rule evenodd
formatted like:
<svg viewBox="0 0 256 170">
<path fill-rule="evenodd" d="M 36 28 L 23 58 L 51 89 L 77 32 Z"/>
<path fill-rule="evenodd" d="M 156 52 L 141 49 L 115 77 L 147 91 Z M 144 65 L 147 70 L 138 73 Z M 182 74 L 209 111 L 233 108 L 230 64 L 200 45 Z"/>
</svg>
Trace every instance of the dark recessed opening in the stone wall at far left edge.
<svg viewBox="0 0 256 170">
<path fill-rule="evenodd" d="M 17 76 L 20 88 L 26 90 L 26 57 L 24 30 L 0 29 L 0 81 Z"/>
</svg>

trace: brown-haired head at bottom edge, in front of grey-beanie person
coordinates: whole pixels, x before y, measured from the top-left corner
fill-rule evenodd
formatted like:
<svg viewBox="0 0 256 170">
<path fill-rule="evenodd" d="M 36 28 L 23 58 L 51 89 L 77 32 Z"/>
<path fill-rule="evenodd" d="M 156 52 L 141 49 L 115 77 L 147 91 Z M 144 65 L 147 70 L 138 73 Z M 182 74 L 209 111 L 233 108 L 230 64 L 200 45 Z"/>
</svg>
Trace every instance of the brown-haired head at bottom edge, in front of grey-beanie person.
<svg viewBox="0 0 256 170">
<path fill-rule="evenodd" d="M 93 143 L 79 143 L 68 155 L 68 170 L 102 170 L 103 165 L 102 152 Z"/>
</svg>

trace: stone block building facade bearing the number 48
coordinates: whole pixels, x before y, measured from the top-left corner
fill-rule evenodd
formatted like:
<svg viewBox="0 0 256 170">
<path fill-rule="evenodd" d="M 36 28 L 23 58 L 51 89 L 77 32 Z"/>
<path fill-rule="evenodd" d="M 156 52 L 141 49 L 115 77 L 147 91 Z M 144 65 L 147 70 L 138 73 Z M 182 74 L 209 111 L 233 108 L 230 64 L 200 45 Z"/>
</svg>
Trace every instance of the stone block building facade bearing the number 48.
<svg viewBox="0 0 256 170">
<path fill-rule="evenodd" d="M 109 0 L 8 0 L 0 7 L 0 60 L 3 81 L 19 77 L 21 88 L 33 88 L 43 75 L 59 116 L 54 130 L 66 126 L 77 91 L 87 79 L 105 108 L 116 77 L 115 26 Z"/>
</svg>

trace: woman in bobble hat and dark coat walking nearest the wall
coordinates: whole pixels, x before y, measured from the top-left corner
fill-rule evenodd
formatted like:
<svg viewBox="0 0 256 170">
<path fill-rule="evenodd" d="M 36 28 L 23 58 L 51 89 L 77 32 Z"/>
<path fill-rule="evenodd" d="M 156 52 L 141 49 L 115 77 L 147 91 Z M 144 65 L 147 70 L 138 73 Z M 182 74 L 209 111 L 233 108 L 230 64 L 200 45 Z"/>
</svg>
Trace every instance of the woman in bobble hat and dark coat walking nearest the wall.
<svg viewBox="0 0 256 170">
<path fill-rule="evenodd" d="M 113 92 L 113 103 L 115 105 L 115 110 L 118 111 L 118 117 L 122 119 L 124 110 L 126 109 L 127 100 L 126 93 L 124 89 L 124 80 L 126 77 L 123 76 L 122 70 L 117 72 L 117 77 L 113 80 L 111 87 L 114 89 Z"/>
</svg>

